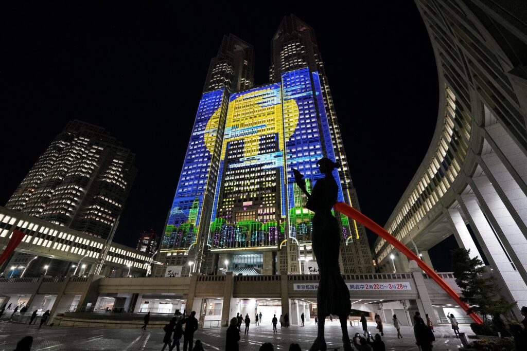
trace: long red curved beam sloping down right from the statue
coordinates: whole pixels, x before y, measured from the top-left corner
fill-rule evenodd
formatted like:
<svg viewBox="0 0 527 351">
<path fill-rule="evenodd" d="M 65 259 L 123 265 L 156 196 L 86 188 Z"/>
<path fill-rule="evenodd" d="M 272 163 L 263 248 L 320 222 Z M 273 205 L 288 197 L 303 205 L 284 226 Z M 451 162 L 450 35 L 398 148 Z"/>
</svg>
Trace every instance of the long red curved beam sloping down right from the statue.
<svg viewBox="0 0 527 351">
<path fill-rule="evenodd" d="M 382 237 L 388 243 L 392 244 L 396 249 L 405 254 L 406 257 L 408 257 L 409 259 L 413 259 L 417 263 L 419 268 L 423 269 L 425 273 L 428 274 L 428 276 L 434 279 L 435 282 L 439 284 L 439 286 L 441 286 L 443 290 L 445 290 L 445 292 L 450 295 L 454 299 L 454 301 L 465 310 L 465 312 L 469 310 L 469 305 L 465 304 L 461 300 L 460 296 L 456 294 L 456 292 L 450 287 L 450 285 L 446 284 L 446 282 L 440 276 L 438 276 L 432 268 L 428 267 L 426 263 L 424 263 L 422 259 L 417 257 L 417 255 L 414 254 L 409 248 L 407 248 L 406 245 L 401 243 L 390 233 L 386 232 L 383 227 L 379 226 L 377 223 L 373 222 L 373 220 L 369 219 L 362 213 L 358 212 L 355 208 L 343 202 L 336 203 L 333 208 L 335 208 L 338 212 L 355 219 L 357 222 L 364 224 L 375 234 Z M 474 312 L 470 313 L 469 316 L 471 316 L 472 319 L 474 319 L 474 322 L 476 322 L 477 324 L 483 324 L 483 320 Z"/>
</svg>

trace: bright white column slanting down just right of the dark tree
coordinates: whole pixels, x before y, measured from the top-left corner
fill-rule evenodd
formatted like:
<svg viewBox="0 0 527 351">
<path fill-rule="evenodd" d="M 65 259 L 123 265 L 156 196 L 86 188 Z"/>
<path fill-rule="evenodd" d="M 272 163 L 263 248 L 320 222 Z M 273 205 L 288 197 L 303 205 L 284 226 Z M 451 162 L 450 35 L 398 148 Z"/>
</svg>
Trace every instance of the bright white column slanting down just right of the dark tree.
<svg viewBox="0 0 527 351">
<path fill-rule="evenodd" d="M 511 264 L 508 255 L 477 203 L 476 196 L 464 194 L 461 195 L 459 201 L 485 257 L 489 260 L 490 266 L 494 267 L 504 286 L 508 289 L 508 292 L 505 293 L 509 293 L 512 300 L 518 302 L 518 306 L 527 306 L 527 285 L 518 270 Z M 518 313 L 518 311 L 516 312 Z"/>
</svg>

